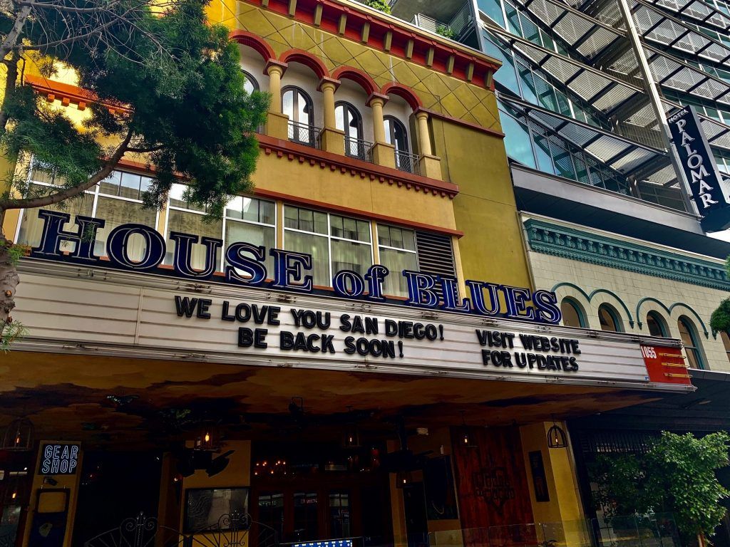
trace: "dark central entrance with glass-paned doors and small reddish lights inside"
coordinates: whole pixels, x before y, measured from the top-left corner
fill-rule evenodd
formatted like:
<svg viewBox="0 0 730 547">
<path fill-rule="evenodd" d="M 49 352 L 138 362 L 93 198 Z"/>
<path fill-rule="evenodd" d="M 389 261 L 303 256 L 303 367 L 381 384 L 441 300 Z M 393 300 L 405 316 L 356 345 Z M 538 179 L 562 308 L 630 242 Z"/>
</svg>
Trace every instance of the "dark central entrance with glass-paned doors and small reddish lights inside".
<svg viewBox="0 0 730 547">
<path fill-rule="evenodd" d="M 353 538 L 365 547 L 392 539 L 388 473 L 380 448 L 255 444 L 251 513 L 282 543 Z"/>
</svg>

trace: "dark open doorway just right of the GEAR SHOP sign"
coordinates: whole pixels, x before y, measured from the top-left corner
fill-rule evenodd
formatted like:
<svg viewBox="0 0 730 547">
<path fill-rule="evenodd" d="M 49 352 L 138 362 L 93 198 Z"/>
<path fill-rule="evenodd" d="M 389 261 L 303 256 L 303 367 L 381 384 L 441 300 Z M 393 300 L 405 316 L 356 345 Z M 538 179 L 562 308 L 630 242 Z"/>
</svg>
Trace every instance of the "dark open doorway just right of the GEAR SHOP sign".
<svg viewBox="0 0 730 547">
<path fill-rule="evenodd" d="M 85 452 L 72 545 L 82 547 L 140 511 L 157 516 L 161 465 L 156 453 Z"/>
</svg>

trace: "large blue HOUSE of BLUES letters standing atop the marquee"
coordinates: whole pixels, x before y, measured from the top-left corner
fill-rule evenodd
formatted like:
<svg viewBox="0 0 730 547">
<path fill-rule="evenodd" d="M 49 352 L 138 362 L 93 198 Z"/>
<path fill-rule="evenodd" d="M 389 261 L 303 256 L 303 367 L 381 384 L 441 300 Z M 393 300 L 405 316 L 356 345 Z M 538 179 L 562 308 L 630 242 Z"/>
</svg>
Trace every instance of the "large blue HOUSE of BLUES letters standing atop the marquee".
<svg viewBox="0 0 730 547">
<path fill-rule="evenodd" d="M 154 228 L 141 224 L 124 224 L 111 230 L 107 238 L 108 262 L 101 263 L 94 255 L 96 232 L 104 228 L 105 221 L 100 218 L 77 215 L 74 219 L 76 228 L 64 230 L 63 226 L 70 221 L 70 215 L 64 212 L 41 210 L 38 216 L 43 220 L 41 241 L 34 247 L 34 257 L 52 260 L 71 260 L 85 265 L 104 265 L 141 273 L 161 273 L 158 266 L 166 255 L 166 241 Z M 128 243 L 132 236 L 145 240 L 145 256 L 134 260 L 129 256 Z M 218 264 L 218 252 L 223 248 L 223 240 L 202 237 L 189 233 L 170 233 L 174 241 L 172 265 L 175 275 L 185 279 L 204 282 L 213 278 Z M 73 252 L 61 250 L 64 241 L 76 244 Z M 205 266 L 193 268 L 193 246 L 201 245 L 205 251 Z M 312 292 L 312 255 L 293 252 L 285 249 L 269 249 L 268 254 L 274 259 L 274 271 L 266 270 L 266 248 L 237 241 L 225 249 L 226 268 L 224 281 L 229 284 L 247 287 L 271 287 L 273 289 L 292 292 Z M 368 302 L 385 302 L 383 282 L 385 278 L 396 273 L 388 271 L 383 265 L 372 265 L 366 274 L 356 271 L 337 271 L 332 278 L 334 292 L 342 298 L 365 300 Z M 467 280 L 469 298 L 459 298 L 455 277 L 436 276 L 420 271 L 404 270 L 408 286 L 407 304 L 424 309 L 441 309 L 464 314 L 477 314 L 483 317 L 510 317 L 557 324 L 561 320 L 560 306 L 555 293 L 546 290 L 531 291 L 522 287 L 510 287 L 488 282 Z M 267 282 L 266 279 L 272 278 Z M 442 298 L 439 297 L 439 293 Z M 500 309 L 500 299 L 504 300 L 505 311 Z"/>
</svg>

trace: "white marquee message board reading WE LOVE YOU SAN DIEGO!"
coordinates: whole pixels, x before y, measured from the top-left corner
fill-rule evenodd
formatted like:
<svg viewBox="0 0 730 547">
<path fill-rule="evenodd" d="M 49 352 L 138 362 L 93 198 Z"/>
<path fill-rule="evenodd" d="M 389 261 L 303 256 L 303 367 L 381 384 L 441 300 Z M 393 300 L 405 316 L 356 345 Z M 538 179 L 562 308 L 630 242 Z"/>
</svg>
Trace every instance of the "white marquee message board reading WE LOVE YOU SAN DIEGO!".
<svg viewBox="0 0 730 547">
<path fill-rule="evenodd" d="M 637 335 L 215 282 L 187 287 L 108 268 L 84 279 L 77 265 L 53 273 L 22 266 L 19 319 L 44 347 L 69 346 L 73 325 L 72 351 L 125 358 L 686 389 L 650 378 Z"/>
</svg>

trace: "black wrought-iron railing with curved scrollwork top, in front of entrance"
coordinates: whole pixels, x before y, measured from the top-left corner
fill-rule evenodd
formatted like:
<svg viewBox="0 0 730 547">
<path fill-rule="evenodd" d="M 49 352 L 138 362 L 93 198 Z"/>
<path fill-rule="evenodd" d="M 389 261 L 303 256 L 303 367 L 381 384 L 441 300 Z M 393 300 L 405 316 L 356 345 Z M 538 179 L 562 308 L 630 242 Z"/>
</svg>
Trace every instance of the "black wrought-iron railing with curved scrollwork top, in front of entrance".
<svg viewBox="0 0 730 547">
<path fill-rule="evenodd" d="M 166 527 L 144 513 L 125 519 L 87 540 L 84 547 L 278 547 L 276 530 L 247 513 L 226 513 L 215 524 L 194 532 Z"/>
</svg>

